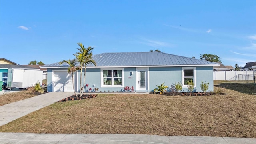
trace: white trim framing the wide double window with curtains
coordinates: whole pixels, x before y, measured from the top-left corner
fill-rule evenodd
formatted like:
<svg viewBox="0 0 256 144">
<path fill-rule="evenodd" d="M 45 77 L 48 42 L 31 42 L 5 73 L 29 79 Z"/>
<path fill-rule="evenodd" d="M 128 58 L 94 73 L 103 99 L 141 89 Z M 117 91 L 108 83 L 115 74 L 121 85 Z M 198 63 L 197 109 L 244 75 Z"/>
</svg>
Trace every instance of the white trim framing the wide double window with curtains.
<svg viewBox="0 0 256 144">
<path fill-rule="evenodd" d="M 103 70 L 122 70 L 122 84 L 121 85 L 114 85 L 114 82 L 112 82 L 112 85 L 104 85 L 103 82 Z M 102 88 L 123 88 L 124 87 L 124 68 L 101 68 L 100 69 L 100 87 Z"/>
</svg>

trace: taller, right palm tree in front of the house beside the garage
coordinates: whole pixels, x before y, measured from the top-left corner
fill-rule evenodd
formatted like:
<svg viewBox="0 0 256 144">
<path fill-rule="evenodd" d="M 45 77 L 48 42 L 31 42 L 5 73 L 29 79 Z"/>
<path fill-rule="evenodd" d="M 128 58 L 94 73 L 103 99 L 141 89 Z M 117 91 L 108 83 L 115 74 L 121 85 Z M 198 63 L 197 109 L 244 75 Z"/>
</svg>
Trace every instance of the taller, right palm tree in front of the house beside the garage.
<svg viewBox="0 0 256 144">
<path fill-rule="evenodd" d="M 77 50 L 79 50 L 79 52 L 76 52 L 76 54 L 74 54 L 74 56 L 76 57 L 76 60 L 78 61 L 79 65 L 80 65 L 80 70 L 81 70 L 80 93 L 79 93 L 79 96 L 81 97 L 82 93 L 84 92 L 84 86 L 85 86 L 86 66 L 90 65 L 90 64 L 94 64 L 94 66 L 96 66 L 96 62 L 92 58 L 92 50 L 94 48 L 92 48 L 91 46 L 86 48 L 86 47 L 84 47 L 84 45 L 82 43 L 77 43 L 77 44 L 78 44 L 78 46 L 80 46 L 80 48 L 77 48 Z M 82 70 L 83 69 L 84 69 L 84 83 L 82 85 Z"/>
</svg>

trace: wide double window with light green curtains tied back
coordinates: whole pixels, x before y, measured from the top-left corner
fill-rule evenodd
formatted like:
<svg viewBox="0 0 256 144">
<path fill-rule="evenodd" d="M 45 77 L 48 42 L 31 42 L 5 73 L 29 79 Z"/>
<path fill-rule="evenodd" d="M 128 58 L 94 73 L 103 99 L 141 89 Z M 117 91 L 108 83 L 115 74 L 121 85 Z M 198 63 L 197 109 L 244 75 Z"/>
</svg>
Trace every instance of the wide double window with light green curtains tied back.
<svg viewBox="0 0 256 144">
<path fill-rule="evenodd" d="M 119 87 L 122 86 L 123 70 L 122 69 L 102 69 L 102 87 Z"/>
</svg>

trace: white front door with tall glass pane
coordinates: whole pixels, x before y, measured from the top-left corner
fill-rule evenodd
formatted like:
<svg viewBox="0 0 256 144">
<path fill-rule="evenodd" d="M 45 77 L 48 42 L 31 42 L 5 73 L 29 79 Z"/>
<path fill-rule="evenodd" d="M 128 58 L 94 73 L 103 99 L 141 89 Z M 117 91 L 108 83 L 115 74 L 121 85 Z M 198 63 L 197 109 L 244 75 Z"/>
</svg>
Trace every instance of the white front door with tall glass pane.
<svg viewBox="0 0 256 144">
<path fill-rule="evenodd" d="M 136 90 L 148 90 L 148 69 L 137 68 L 137 86 Z"/>
</svg>

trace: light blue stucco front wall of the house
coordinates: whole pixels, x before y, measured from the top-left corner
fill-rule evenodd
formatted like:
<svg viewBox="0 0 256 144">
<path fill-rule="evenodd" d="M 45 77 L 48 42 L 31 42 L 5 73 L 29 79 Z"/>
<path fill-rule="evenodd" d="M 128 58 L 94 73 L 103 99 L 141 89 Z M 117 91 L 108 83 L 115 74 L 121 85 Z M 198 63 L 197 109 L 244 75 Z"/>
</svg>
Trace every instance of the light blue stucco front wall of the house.
<svg viewBox="0 0 256 144">
<path fill-rule="evenodd" d="M 52 92 L 52 70 L 47 69 L 47 91 Z M 56 69 L 55 69 L 56 70 Z M 65 70 L 58 69 L 58 70 Z M 84 92 L 87 92 L 89 88 L 98 88 L 98 92 L 120 92 L 124 89 L 125 86 L 134 87 L 136 90 L 136 68 L 124 68 L 124 76 L 123 76 L 123 87 L 118 88 L 104 88 L 101 87 L 100 80 L 100 68 L 86 68 L 86 82 L 85 84 L 89 84 L 88 88 L 84 89 Z M 131 74 L 132 72 L 132 74 Z M 80 90 L 80 71 L 77 72 L 77 79 L 75 82 L 78 82 L 76 90 Z M 175 84 L 175 82 L 182 82 L 182 67 L 150 67 L 149 68 L 149 90 L 152 91 L 156 88 L 156 85 L 160 85 L 165 83 L 166 86 L 170 86 Z M 84 72 L 82 72 L 82 78 L 84 77 Z M 129 78 L 128 78 L 129 77 Z M 200 92 L 200 84 L 201 80 L 203 82 L 209 82 L 209 90 L 213 91 L 213 66 L 198 66 L 196 67 L 196 92 Z M 82 81 L 83 83 L 83 81 Z M 95 86 L 93 86 L 95 85 Z M 187 92 L 187 88 L 183 88 L 184 92 Z"/>
</svg>

